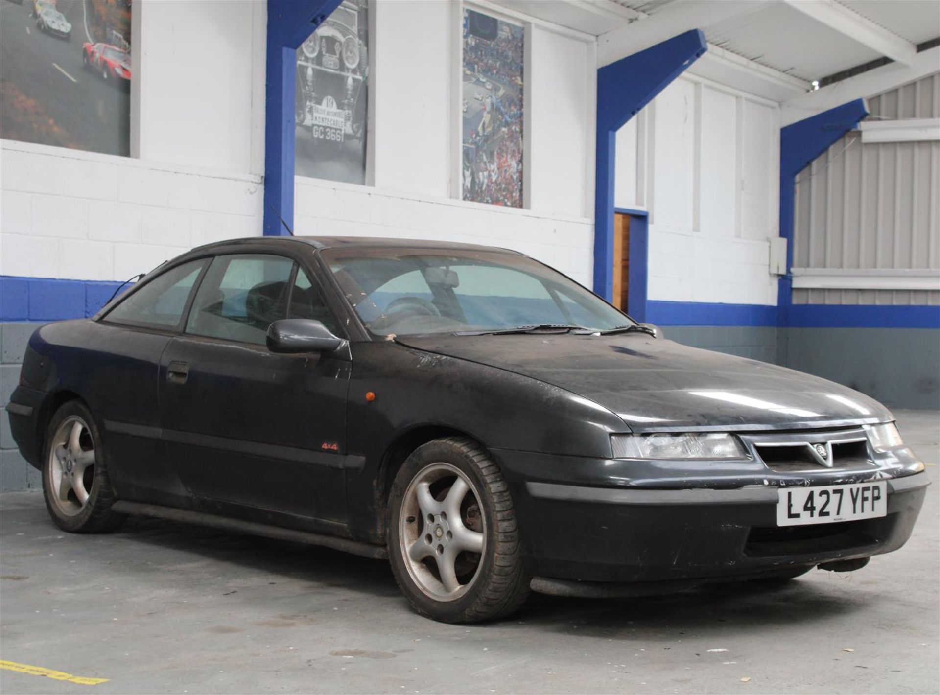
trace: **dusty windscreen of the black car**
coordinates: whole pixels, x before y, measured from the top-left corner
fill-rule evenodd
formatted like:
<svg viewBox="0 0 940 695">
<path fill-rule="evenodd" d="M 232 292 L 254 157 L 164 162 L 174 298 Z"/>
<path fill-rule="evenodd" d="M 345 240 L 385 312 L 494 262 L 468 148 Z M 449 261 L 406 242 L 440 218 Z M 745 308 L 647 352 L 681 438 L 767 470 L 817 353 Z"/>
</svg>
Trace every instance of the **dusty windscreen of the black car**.
<svg viewBox="0 0 940 695">
<path fill-rule="evenodd" d="M 356 314 L 377 335 L 633 325 L 584 287 L 524 255 L 329 249 L 322 257 Z"/>
</svg>

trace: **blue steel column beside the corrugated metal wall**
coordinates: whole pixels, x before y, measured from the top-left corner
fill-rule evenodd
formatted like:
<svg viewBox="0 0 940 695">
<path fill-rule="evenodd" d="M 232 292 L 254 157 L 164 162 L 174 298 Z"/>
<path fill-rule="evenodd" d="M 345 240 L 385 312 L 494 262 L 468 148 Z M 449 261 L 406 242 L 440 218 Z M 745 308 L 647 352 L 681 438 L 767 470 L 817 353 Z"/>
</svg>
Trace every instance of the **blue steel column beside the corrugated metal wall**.
<svg viewBox="0 0 940 695">
<path fill-rule="evenodd" d="M 780 236 L 787 239 L 787 274 L 777 283 L 777 326 L 790 325 L 796 175 L 868 115 L 865 100 L 856 99 L 780 129 Z"/>
</svg>

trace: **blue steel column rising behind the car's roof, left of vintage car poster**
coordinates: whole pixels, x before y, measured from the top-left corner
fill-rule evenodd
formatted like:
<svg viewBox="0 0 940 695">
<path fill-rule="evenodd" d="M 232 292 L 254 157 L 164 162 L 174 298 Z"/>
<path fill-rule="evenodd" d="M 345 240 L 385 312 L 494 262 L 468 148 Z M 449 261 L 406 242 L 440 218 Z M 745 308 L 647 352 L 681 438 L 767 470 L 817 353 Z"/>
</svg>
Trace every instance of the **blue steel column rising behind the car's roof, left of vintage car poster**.
<svg viewBox="0 0 940 695">
<path fill-rule="evenodd" d="M 341 0 L 268 0 L 264 123 L 264 235 L 293 227 L 297 49 Z"/>
</svg>

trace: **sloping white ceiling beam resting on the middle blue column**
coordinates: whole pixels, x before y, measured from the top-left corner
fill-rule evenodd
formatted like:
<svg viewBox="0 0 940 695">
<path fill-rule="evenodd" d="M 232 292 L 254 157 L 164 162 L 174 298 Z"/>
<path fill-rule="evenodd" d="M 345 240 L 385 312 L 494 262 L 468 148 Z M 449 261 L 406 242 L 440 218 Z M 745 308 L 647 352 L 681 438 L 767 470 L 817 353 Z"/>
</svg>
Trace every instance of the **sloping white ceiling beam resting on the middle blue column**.
<svg viewBox="0 0 940 695">
<path fill-rule="evenodd" d="M 725 22 L 738 15 L 767 7 L 773 0 L 747 2 L 674 2 L 647 19 L 620 26 L 597 39 L 598 67 L 616 63 L 621 58 L 644 51 L 650 46 L 672 39 L 692 29 Z"/>
</svg>

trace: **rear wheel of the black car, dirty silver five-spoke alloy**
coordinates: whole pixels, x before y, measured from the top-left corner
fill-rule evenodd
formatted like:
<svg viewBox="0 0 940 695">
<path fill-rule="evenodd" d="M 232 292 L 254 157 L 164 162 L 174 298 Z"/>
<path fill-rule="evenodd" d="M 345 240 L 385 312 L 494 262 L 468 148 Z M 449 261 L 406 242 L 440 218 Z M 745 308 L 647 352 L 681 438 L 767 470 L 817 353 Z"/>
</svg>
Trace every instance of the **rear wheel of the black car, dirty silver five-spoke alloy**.
<svg viewBox="0 0 940 695">
<path fill-rule="evenodd" d="M 42 492 L 55 525 L 70 533 L 107 533 L 125 517 L 111 511 L 114 493 L 104 468 L 101 436 L 80 401 L 55 411 L 46 431 Z"/>
</svg>

